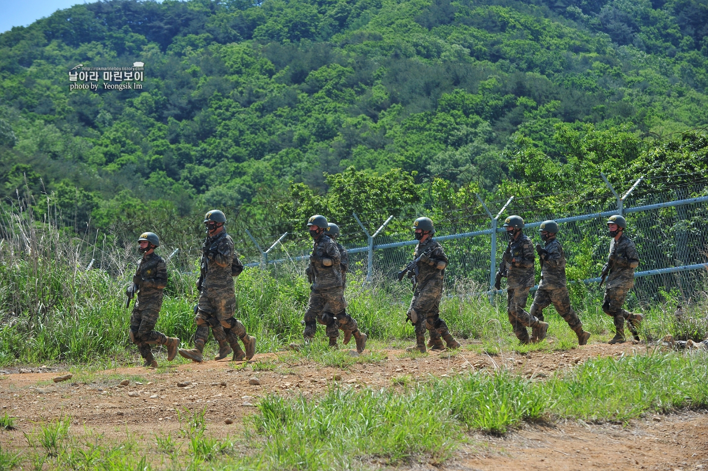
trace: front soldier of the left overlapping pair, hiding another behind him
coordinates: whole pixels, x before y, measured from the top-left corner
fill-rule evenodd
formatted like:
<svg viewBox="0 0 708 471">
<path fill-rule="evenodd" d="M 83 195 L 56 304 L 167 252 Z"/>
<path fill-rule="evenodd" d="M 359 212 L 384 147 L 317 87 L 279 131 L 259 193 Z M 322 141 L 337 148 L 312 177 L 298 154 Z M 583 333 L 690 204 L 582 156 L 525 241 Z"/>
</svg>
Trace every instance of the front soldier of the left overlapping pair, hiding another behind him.
<svg viewBox="0 0 708 471">
<path fill-rule="evenodd" d="M 306 270 L 312 285 L 304 315 L 304 340 L 306 343 L 312 340 L 317 328 L 316 322 L 319 322 L 326 326 L 329 346 L 337 348 L 338 329 L 341 329 L 344 331 L 346 343 L 354 336 L 356 349 L 361 353 L 366 348 L 367 336 L 359 331 L 356 321 L 346 313 L 342 276 L 346 268 L 343 270 L 341 266 L 342 254 L 339 250 L 341 245 L 329 236 L 330 227 L 326 217 L 322 215 L 310 217 L 307 227 L 310 236 L 314 239 L 314 245 Z M 348 263 L 348 256 L 346 251 L 344 252 Z"/>
</svg>

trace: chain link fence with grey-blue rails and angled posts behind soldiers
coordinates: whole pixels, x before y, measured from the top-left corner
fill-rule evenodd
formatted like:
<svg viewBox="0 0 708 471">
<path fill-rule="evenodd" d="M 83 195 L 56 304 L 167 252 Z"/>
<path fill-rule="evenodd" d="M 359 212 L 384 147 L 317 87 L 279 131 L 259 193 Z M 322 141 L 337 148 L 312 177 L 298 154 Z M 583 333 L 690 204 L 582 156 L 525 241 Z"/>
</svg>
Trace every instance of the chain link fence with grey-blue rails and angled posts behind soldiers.
<svg viewBox="0 0 708 471">
<path fill-rule="evenodd" d="M 542 244 L 538 227 L 544 220 L 559 222 L 559 240 L 564 246 L 567 275 L 571 290 L 586 294 L 597 292 L 600 268 L 607 260 L 610 239 L 607 237 L 607 217 L 621 213 L 627 218 L 625 232 L 636 244 L 641 257 L 636 269 L 634 296 L 636 301 L 661 301 L 664 293 L 671 293 L 683 302 L 690 302 L 706 286 L 708 268 L 708 187 L 681 186 L 661 191 L 642 188 L 641 179 L 624 195 L 609 192 L 580 205 L 559 204 L 552 212 L 539 211 L 536 197 L 510 198 L 507 201 L 481 202 L 485 212 L 464 211 L 455 218 L 442 217 L 437 222 L 435 239 L 440 242 L 450 263 L 446 268 L 449 285 L 464 280 L 467 286 L 476 286 L 476 293 L 492 294 L 491 280 L 506 248 L 505 229 L 501 227 L 506 216 L 521 215 L 525 233 L 535 243 Z M 635 189 L 636 188 L 636 189 Z M 506 203 L 506 205 L 505 205 Z M 490 208 L 490 210 L 487 210 Z M 498 224 L 491 208 L 498 211 Z M 413 256 L 416 240 L 411 239 L 411 222 L 421 211 L 410 211 L 399 217 L 385 213 L 362 217 L 352 215 L 333 221 L 340 225 L 340 242 L 347 247 L 350 268 L 372 278 L 376 272 L 393 278 Z M 268 266 L 278 271 L 287 268 L 304 269 L 312 249 L 312 240 L 304 237 L 255 237 L 241 252 L 249 266 Z M 260 249 L 254 253 L 253 245 Z M 275 244 L 274 244 L 275 242 Z M 496 242 L 496 244 L 495 244 Z M 496 245 L 496 249 L 495 246 Z M 264 254 L 265 247 L 268 253 Z M 263 264 L 265 262 L 265 265 Z M 537 279 L 540 267 L 537 261 Z M 500 292 L 501 293 L 501 292 Z"/>
</svg>

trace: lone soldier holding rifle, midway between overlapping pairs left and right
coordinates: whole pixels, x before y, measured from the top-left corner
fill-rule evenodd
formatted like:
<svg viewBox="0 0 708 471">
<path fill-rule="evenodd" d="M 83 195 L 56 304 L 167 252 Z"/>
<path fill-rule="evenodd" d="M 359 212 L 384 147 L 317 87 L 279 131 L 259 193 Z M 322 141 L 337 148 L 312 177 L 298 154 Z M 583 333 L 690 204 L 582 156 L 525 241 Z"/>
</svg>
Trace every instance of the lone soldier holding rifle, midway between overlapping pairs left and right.
<svg viewBox="0 0 708 471">
<path fill-rule="evenodd" d="M 447 348 L 459 348 L 459 342 L 450 334 L 445 321 L 440 319 L 440 298 L 447 256 L 440 243 L 433 240 L 435 227 L 430 218 L 418 217 L 413 222 L 412 229 L 415 229 L 415 237 L 418 240 L 413 256 L 415 259 L 420 256 L 421 259 L 415 268 L 416 288 L 406 314 L 416 331 L 416 346 L 406 350 L 426 352 L 426 329 L 430 332 L 430 341 L 434 348 L 442 348 L 441 338 L 445 339 Z"/>
</svg>

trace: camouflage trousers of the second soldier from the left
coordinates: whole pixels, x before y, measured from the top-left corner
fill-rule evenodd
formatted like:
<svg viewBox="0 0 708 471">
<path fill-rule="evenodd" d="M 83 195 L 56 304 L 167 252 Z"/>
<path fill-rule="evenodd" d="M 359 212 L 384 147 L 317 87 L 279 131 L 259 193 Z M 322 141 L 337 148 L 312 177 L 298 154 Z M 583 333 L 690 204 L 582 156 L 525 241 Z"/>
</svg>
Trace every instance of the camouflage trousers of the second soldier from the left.
<svg viewBox="0 0 708 471">
<path fill-rule="evenodd" d="M 236 312 L 236 295 L 234 288 L 202 288 L 197 305 L 195 322 L 197 331 L 195 341 L 206 344 L 209 329 L 212 329 L 214 339 L 221 344 L 224 340 L 233 345 L 236 339 L 246 336 L 246 328 L 238 319 Z"/>
</svg>

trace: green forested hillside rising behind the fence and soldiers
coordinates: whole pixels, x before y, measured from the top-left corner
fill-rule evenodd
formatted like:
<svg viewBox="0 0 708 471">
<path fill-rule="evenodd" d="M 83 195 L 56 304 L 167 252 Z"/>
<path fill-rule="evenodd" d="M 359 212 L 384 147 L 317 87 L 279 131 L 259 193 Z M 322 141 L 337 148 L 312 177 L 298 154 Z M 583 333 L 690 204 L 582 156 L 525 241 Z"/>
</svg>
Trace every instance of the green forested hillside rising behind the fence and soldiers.
<svg viewBox="0 0 708 471">
<path fill-rule="evenodd" d="M 142 90 L 69 91 L 135 61 Z M 707 87 L 706 0 L 101 1 L 0 35 L 0 196 L 285 227 L 331 184 L 381 208 L 695 178 L 702 131 L 655 138 L 707 125 Z"/>
</svg>

